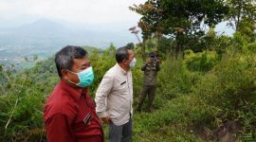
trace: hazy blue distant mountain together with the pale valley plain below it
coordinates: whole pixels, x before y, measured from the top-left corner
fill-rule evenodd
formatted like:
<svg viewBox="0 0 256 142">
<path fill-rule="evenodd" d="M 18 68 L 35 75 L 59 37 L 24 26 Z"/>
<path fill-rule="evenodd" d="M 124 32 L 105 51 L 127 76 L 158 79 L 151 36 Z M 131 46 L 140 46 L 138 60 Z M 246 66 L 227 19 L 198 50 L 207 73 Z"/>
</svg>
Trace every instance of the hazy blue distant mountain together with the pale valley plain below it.
<svg viewBox="0 0 256 142">
<path fill-rule="evenodd" d="M 67 44 L 106 48 L 136 42 L 128 28 L 72 25 L 41 19 L 19 27 L 0 28 L 0 64 L 22 63 L 25 58 L 46 59 Z"/>
</svg>

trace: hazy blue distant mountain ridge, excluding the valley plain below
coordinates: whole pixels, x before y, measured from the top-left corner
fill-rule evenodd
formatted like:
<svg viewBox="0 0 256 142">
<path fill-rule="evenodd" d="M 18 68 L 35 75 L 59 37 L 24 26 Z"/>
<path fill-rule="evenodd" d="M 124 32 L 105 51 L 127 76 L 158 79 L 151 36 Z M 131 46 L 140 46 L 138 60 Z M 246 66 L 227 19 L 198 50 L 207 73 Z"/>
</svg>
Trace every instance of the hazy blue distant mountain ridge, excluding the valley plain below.
<svg viewBox="0 0 256 142">
<path fill-rule="evenodd" d="M 113 43 L 117 46 L 134 42 L 128 31 L 92 30 L 90 27 L 65 27 L 65 24 L 46 19 L 20 27 L 1 29 L 0 45 L 62 46 L 66 44 L 93 45 L 101 48 Z M 93 27 L 95 29 L 95 27 Z"/>
</svg>

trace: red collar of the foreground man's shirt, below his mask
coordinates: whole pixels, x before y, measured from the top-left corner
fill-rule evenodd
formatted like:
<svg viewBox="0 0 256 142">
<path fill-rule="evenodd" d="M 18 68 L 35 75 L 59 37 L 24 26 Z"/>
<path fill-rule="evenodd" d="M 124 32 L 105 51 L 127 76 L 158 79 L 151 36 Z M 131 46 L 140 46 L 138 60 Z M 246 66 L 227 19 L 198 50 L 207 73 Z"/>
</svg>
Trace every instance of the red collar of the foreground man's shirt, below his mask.
<svg viewBox="0 0 256 142">
<path fill-rule="evenodd" d="M 61 88 L 68 93 L 68 95 L 73 98 L 75 101 L 79 101 L 81 96 L 84 94 L 87 94 L 87 87 L 86 88 L 79 88 L 79 87 L 73 87 L 70 84 L 68 84 L 64 80 L 60 80 L 59 85 Z"/>
</svg>

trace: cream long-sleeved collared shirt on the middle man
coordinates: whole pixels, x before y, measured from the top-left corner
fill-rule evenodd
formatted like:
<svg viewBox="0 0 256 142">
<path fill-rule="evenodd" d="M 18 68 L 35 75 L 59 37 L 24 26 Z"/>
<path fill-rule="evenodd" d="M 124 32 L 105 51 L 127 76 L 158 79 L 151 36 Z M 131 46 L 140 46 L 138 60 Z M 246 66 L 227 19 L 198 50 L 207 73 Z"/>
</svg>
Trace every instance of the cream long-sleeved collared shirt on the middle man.
<svg viewBox="0 0 256 142">
<path fill-rule="evenodd" d="M 132 80 L 131 71 L 124 71 L 118 63 L 106 72 L 95 96 L 99 117 L 109 116 L 116 125 L 129 121 L 133 113 Z"/>
</svg>

